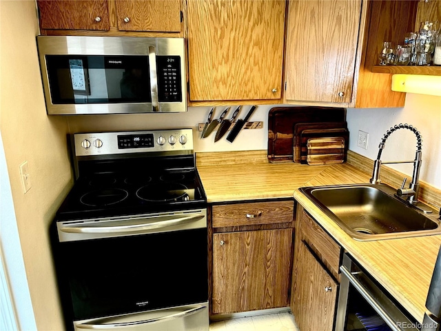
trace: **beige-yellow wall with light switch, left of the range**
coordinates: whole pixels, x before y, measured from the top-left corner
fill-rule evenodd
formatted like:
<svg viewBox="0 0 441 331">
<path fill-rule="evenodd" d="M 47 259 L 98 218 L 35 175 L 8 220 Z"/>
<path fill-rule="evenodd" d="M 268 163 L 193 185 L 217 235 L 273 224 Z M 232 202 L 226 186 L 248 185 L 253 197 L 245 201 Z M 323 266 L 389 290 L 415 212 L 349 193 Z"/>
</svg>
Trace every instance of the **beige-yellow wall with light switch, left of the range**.
<svg viewBox="0 0 441 331">
<path fill-rule="evenodd" d="M 18 229 L 25 267 L 25 275 L 21 271 L 10 279 L 25 277 L 28 281 L 35 321 L 29 314 L 30 323 L 22 323 L 23 330 L 32 324 L 41 331 L 63 330 L 49 226 L 72 185 L 66 148 L 68 123 L 63 117 L 48 117 L 45 111 L 35 1 L 1 0 L 0 26 L 0 132 L 14 201 L 9 207 L 15 214 L 6 221 L 17 221 L 9 225 Z M 26 193 L 19 172 L 23 161 L 28 161 L 32 183 Z M 3 227 L 1 230 L 5 245 Z M 12 270 L 10 265 L 6 268 Z M 34 329 L 29 326 L 27 330 Z"/>
</svg>

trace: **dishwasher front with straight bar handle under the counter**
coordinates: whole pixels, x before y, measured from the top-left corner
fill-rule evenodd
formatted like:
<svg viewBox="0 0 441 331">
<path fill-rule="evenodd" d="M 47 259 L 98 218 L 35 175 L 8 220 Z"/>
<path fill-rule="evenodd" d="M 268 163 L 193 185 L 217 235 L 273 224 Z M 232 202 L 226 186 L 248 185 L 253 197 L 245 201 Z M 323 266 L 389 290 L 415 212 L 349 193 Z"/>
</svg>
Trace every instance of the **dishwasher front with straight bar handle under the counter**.
<svg viewBox="0 0 441 331">
<path fill-rule="evenodd" d="M 418 331 L 419 323 L 347 253 L 340 271 L 335 331 Z"/>
</svg>

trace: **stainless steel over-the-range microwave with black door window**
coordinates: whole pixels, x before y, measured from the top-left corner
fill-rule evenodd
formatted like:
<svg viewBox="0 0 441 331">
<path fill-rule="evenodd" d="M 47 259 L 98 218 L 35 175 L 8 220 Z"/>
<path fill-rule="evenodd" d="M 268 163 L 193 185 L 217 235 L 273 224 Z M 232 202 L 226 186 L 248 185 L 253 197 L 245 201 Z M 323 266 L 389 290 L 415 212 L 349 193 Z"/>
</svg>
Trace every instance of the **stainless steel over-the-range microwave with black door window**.
<svg viewBox="0 0 441 331">
<path fill-rule="evenodd" d="M 48 114 L 185 112 L 183 38 L 38 36 Z"/>
</svg>

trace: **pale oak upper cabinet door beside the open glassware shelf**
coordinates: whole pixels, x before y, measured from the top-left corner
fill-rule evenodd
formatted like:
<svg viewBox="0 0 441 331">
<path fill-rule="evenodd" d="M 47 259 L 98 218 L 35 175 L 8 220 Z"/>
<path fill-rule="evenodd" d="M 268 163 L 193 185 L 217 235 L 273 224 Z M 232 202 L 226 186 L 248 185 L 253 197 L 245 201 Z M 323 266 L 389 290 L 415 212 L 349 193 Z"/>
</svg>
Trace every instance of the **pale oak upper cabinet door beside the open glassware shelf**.
<svg viewBox="0 0 441 331">
<path fill-rule="evenodd" d="M 289 101 L 349 103 L 361 0 L 291 0 L 285 57 Z"/>
</svg>

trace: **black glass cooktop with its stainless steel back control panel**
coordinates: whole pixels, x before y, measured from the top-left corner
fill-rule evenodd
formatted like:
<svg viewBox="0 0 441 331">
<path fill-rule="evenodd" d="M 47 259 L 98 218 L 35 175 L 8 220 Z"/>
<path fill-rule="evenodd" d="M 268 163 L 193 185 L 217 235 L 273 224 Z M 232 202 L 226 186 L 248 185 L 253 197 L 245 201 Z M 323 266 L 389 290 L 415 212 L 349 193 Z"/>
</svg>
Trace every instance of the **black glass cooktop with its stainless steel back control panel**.
<svg viewBox="0 0 441 331">
<path fill-rule="evenodd" d="M 206 206 L 192 129 L 74 134 L 72 142 L 76 181 L 59 221 Z"/>
</svg>

